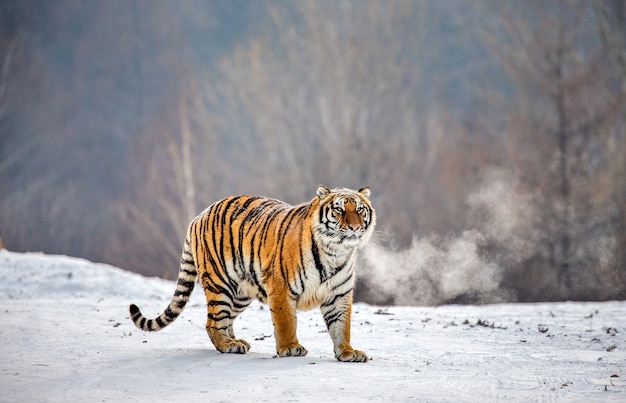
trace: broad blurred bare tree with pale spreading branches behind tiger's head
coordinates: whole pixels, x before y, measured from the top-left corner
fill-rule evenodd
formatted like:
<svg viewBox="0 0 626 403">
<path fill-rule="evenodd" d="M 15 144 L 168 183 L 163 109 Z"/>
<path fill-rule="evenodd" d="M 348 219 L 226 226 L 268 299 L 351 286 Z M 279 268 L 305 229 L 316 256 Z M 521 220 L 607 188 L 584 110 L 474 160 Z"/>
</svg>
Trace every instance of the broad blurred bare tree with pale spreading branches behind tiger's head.
<svg viewBox="0 0 626 403">
<path fill-rule="evenodd" d="M 237 47 L 219 76 L 203 80 L 207 120 L 239 175 L 233 187 L 300 202 L 318 183 L 369 185 L 387 223 L 410 239 L 427 146 L 415 101 L 421 39 L 408 17 L 416 7 L 270 7 L 272 29 Z"/>
</svg>

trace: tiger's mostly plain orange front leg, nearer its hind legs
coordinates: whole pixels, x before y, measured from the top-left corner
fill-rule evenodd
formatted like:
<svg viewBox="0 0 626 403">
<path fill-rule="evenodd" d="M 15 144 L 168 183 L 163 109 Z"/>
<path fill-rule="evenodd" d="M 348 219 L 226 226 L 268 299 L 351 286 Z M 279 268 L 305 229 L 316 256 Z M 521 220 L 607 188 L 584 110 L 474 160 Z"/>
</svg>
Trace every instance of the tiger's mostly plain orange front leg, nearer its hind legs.
<svg viewBox="0 0 626 403">
<path fill-rule="evenodd" d="M 272 312 L 272 321 L 274 322 L 278 356 L 305 356 L 308 351 L 300 344 L 296 336 L 296 301 L 286 295 L 285 291 L 282 291 L 270 294 L 268 303 Z"/>
</svg>

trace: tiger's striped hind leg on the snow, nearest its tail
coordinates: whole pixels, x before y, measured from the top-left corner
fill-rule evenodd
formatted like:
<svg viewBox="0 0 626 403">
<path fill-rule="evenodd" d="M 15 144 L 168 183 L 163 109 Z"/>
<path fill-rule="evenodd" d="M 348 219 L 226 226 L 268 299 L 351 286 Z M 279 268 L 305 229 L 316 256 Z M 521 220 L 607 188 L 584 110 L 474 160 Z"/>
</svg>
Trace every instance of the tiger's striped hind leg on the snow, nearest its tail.
<svg viewBox="0 0 626 403">
<path fill-rule="evenodd" d="M 221 353 L 245 354 L 250 344 L 235 337 L 233 322 L 250 304 L 249 298 L 230 299 L 224 294 L 206 292 L 207 322 L 206 330 L 215 348 Z"/>
</svg>

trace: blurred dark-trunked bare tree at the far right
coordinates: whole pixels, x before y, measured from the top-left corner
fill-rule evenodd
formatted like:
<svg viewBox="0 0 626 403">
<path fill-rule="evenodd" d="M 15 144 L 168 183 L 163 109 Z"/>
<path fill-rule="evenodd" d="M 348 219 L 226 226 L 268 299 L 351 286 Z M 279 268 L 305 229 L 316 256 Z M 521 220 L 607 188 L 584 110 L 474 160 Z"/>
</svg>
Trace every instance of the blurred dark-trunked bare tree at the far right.
<svg viewBox="0 0 626 403">
<path fill-rule="evenodd" d="M 614 254 L 615 228 L 607 224 L 616 210 L 597 185 L 610 180 L 609 138 L 621 97 L 597 50 L 589 4 L 530 5 L 502 14 L 511 42 L 500 43 L 496 53 L 517 91 L 509 114 L 511 162 L 538 195 L 549 267 L 542 270 L 560 286 L 544 295 L 615 295 L 615 262 L 607 258 Z M 601 280 L 588 281 L 599 273 Z M 543 277 L 544 287 L 554 281 Z"/>
</svg>

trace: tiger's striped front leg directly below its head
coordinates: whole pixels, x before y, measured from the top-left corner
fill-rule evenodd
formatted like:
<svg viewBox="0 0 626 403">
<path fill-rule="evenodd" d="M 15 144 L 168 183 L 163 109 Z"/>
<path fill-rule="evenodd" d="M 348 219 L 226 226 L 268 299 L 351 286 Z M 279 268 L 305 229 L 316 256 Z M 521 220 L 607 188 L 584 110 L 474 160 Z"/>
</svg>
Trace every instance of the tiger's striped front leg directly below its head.
<svg viewBox="0 0 626 403">
<path fill-rule="evenodd" d="M 350 345 L 352 291 L 341 297 L 329 297 L 320 309 L 333 341 L 335 358 L 339 361 L 366 362 L 369 359 L 367 354 L 353 349 Z"/>
</svg>

